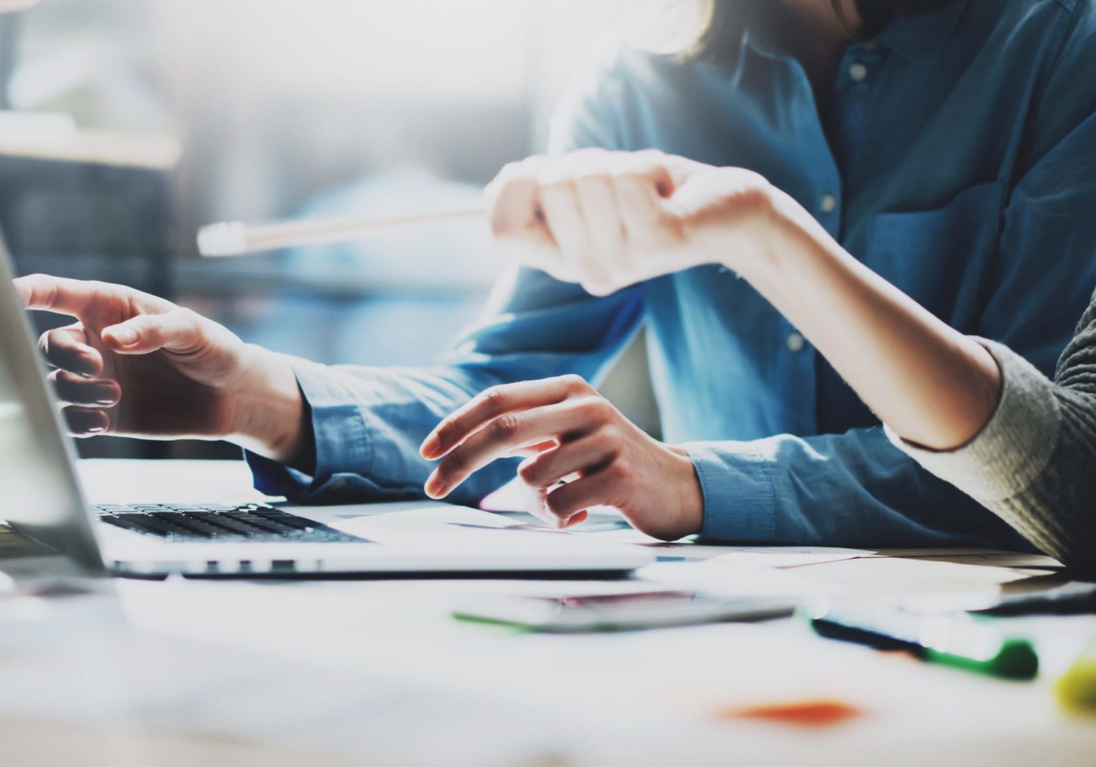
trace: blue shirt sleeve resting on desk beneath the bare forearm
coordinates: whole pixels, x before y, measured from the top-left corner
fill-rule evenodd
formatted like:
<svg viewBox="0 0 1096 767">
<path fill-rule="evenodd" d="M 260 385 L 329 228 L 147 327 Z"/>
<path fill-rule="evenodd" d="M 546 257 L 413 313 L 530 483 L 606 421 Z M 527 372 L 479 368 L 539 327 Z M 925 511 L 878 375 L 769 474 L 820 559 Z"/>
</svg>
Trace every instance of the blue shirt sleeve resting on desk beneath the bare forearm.
<svg viewBox="0 0 1096 767">
<path fill-rule="evenodd" d="M 989 539 L 1030 548 L 895 449 L 881 427 L 685 447 L 704 492 L 706 540 L 927 548 L 979 547 Z"/>
</svg>

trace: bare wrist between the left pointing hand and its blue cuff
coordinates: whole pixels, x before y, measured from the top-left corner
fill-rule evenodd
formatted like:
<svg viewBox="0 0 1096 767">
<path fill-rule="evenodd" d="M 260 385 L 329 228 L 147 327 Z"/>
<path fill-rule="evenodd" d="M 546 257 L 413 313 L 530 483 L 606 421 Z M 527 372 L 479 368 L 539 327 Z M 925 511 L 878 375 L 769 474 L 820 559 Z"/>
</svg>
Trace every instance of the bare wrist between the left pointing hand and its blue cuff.
<svg viewBox="0 0 1096 767">
<path fill-rule="evenodd" d="M 240 367 L 228 438 L 264 458 L 299 465 L 307 407 L 289 357 L 248 344 Z"/>
</svg>

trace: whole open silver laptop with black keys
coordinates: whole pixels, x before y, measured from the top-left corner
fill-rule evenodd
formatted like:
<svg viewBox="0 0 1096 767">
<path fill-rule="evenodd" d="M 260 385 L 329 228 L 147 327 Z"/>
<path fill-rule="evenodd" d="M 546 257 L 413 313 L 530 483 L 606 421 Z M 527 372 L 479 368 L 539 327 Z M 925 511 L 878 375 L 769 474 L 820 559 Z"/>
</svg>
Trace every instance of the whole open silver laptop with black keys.
<svg viewBox="0 0 1096 767">
<path fill-rule="evenodd" d="M 372 540 L 323 522 L 338 515 L 299 506 L 90 506 L 44 374 L 0 237 L 0 519 L 82 573 L 626 572 L 654 560 L 646 547 L 591 536 L 442 529 L 430 514 L 421 535 Z"/>
</svg>

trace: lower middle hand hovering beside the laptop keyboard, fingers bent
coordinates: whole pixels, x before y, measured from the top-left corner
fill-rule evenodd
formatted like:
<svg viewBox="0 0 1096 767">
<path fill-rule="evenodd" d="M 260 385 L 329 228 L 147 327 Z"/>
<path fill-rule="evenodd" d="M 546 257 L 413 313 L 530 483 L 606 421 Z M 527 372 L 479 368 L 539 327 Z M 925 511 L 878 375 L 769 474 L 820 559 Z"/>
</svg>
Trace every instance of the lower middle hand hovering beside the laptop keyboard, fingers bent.
<svg viewBox="0 0 1096 767">
<path fill-rule="evenodd" d="M 426 494 L 445 497 L 491 461 L 522 453 L 533 454 L 517 471 L 536 497 L 528 511 L 551 525 L 612 506 L 663 540 L 700 531 L 704 497 L 685 450 L 644 434 L 579 376 L 494 387 L 442 421 L 421 447 L 423 458 L 443 459 Z"/>
</svg>

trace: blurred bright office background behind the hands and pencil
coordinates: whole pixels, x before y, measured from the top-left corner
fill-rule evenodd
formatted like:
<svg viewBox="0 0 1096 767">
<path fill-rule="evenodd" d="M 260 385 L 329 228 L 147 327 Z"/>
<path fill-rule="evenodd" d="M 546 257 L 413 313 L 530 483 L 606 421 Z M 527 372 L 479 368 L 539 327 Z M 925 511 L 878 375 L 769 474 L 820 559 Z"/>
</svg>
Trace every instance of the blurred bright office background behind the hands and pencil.
<svg viewBox="0 0 1096 767">
<path fill-rule="evenodd" d="M 16 268 L 134 285 L 319 362 L 426 363 L 501 267 L 482 224 L 221 261 L 197 257 L 197 228 L 477 199 L 544 149 L 569 78 L 636 4 L 44 0 L 0 20 Z M 609 393 L 636 388 L 641 351 L 628 359 Z M 655 428 L 646 394 L 627 409 Z M 238 455 L 113 438 L 81 451 Z"/>
</svg>

